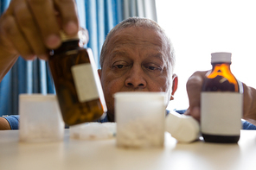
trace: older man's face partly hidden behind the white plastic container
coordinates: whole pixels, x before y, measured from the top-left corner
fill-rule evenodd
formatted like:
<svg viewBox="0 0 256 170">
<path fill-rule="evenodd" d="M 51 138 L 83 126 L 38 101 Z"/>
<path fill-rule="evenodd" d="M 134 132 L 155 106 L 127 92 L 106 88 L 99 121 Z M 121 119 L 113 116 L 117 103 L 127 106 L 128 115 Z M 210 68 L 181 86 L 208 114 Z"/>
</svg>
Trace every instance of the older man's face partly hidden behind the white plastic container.
<svg viewBox="0 0 256 170">
<path fill-rule="evenodd" d="M 147 28 L 124 28 L 109 41 L 101 84 L 110 121 L 118 91 L 165 91 L 170 98 L 172 72 L 163 35 Z"/>
</svg>

